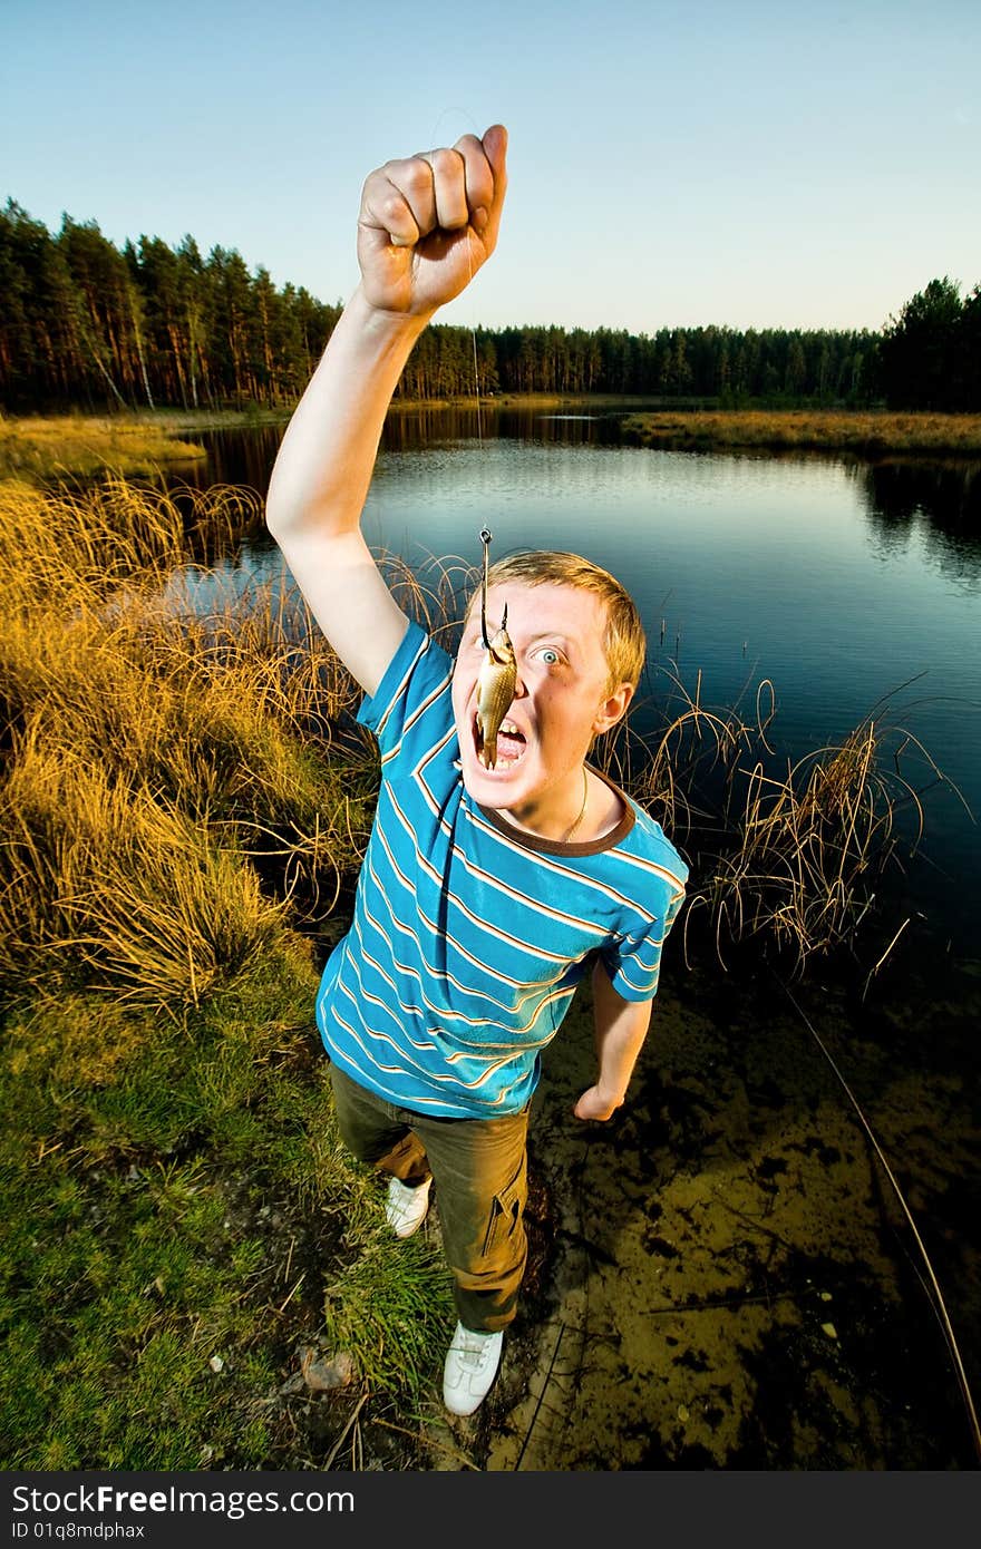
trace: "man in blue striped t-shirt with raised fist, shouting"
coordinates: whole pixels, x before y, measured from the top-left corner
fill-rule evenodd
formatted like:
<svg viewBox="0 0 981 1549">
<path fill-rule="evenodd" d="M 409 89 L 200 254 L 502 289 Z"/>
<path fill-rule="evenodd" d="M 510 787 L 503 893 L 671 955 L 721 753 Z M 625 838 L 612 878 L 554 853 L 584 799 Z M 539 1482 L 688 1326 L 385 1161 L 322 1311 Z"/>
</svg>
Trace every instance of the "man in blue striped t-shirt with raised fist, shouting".
<svg viewBox="0 0 981 1549">
<path fill-rule="evenodd" d="M 687 869 L 586 756 L 634 696 L 645 635 L 623 587 L 575 555 L 494 565 L 513 699 L 488 756 L 471 603 L 456 663 L 406 618 L 361 534 L 384 415 L 418 335 L 494 251 L 507 135 L 391 161 L 363 189 L 361 282 L 273 469 L 267 519 L 366 700 L 381 790 L 352 928 L 318 996 L 341 1132 L 391 1174 L 387 1218 L 422 1225 L 435 1183 L 457 1329 L 443 1400 L 494 1379 L 525 1264 L 525 1135 L 541 1049 L 592 971 L 597 1081 L 625 1100 Z"/>
</svg>

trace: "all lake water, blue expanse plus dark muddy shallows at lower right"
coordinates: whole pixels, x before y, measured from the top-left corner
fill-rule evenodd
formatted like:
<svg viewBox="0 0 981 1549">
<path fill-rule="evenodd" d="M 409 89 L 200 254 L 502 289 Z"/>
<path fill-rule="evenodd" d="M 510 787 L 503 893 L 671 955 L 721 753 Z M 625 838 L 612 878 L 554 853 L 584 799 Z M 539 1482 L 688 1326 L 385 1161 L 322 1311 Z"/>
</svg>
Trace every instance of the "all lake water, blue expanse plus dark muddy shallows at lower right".
<svg viewBox="0 0 981 1549">
<path fill-rule="evenodd" d="M 277 432 L 206 440 L 200 480 L 265 491 Z M 700 675 L 719 708 L 752 708 L 769 680 L 778 753 L 874 714 L 981 813 L 979 474 L 640 449 L 609 415 L 409 410 L 389 418 L 364 522 L 423 579 L 432 556 L 476 567 L 482 527 L 494 556 L 572 548 L 618 575 L 651 646 L 639 730 L 674 675 L 690 691 Z M 260 531 L 219 584 L 270 573 Z M 212 582 L 189 579 L 206 606 Z M 924 757 L 904 767 L 931 779 Z M 976 1386 L 981 840 L 948 787 L 925 812 L 897 900 L 911 923 L 868 998 L 818 965 L 789 1001 L 669 943 L 629 1103 L 592 1128 L 569 1117 L 594 1060 L 577 1001 L 535 1098 L 522 1309 L 454 1439 L 477 1465 L 976 1467 L 919 1250 L 851 1106 L 913 1207 Z"/>
</svg>

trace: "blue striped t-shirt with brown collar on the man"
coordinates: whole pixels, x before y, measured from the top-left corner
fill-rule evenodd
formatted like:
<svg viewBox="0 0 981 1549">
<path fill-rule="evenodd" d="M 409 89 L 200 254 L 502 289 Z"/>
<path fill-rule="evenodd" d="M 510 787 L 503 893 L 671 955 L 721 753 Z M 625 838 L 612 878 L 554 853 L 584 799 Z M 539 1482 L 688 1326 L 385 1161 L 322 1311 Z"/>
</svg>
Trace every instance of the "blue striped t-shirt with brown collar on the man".
<svg viewBox="0 0 981 1549">
<path fill-rule="evenodd" d="M 524 833 L 466 792 L 453 661 L 409 629 L 358 720 L 381 788 L 352 926 L 316 1016 L 332 1061 L 387 1101 L 448 1118 L 518 1112 L 598 953 L 626 1001 L 657 991 L 688 869 L 623 793 L 611 833 Z M 603 778 L 603 776 L 601 776 Z"/>
</svg>

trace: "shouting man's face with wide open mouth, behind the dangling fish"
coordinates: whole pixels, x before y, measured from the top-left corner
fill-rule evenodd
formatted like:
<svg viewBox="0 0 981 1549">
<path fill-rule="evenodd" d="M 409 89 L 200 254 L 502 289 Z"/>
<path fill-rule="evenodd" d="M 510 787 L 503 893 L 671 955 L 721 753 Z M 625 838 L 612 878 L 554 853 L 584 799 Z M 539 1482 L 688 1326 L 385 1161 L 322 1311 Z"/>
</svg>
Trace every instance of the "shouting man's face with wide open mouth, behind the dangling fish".
<svg viewBox="0 0 981 1549">
<path fill-rule="evenodd" d="M 453 713 L 463 784 L 485 807 L 511 809 L 567 795 L 589 745 L 626 708 L 609 694 L 603 651 L 606 604 L 578 587 L 507 581 L 487 593 L 493 638 L 507 603 L 515 646 L 515 700 L 497 734 L 497 764 L 485 768 L 476 742 L 476 685 L 484 661 L 480 601 L 471 606 L 453 672 Z M 611 706 L 615 711 L 611 719 Z"/>
</svg>

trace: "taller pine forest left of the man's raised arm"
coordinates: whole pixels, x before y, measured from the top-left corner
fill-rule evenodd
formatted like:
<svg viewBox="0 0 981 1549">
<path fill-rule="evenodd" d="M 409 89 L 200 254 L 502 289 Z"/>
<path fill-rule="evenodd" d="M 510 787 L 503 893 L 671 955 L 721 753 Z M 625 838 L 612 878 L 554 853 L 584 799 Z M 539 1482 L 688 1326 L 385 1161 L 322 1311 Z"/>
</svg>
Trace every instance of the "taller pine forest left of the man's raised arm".
<svg viewBox="0 0 981 1549">
<path fill-rule="evenodd" d="M 95 222 L 56 235 L 0 212 L 0 395 L 9 409 L 243 409 L 296 400 L 341 314 L 192 237 L 119 251 Z"/>
</svg>

